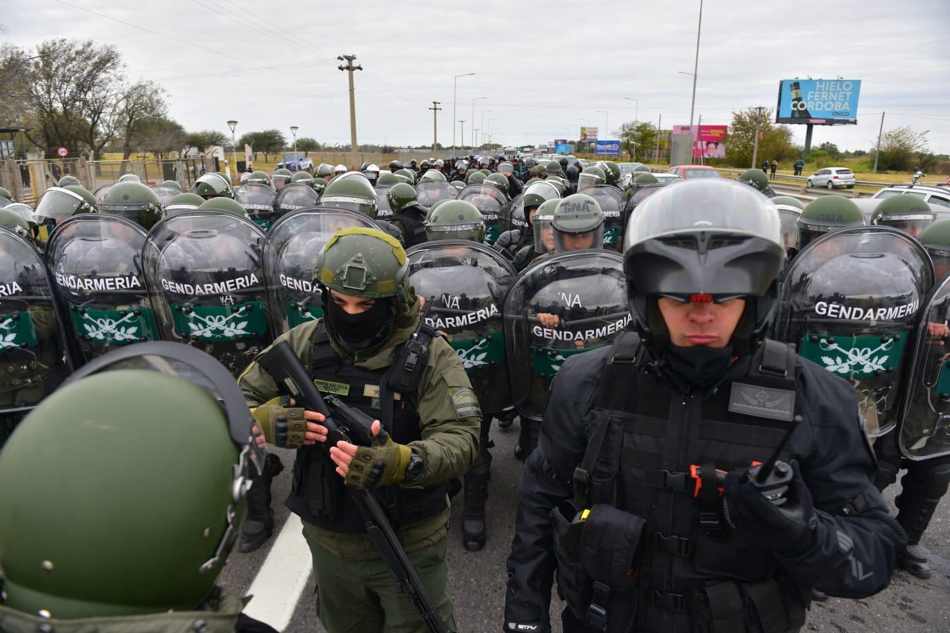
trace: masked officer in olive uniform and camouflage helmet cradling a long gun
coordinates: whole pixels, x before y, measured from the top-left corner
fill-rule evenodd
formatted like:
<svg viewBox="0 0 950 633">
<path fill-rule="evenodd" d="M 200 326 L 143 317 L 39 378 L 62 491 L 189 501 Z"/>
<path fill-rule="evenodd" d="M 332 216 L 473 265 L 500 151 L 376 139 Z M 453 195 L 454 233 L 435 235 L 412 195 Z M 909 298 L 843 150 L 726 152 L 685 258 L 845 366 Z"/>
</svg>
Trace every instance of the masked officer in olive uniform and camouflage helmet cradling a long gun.
<svg viewBox="0 0 950 633">
<path fill-rule="evenodd" d="M 317 615 L 332 632 L 382 630 L 384 624 L 420 629 L 417 612 L 392 583 L 344 482 L 375 491 L 390 508 L 409 560 L 443 620 L 454 627 L 445 584 L 445 483 L 474 462 L 481 411 L 458 356 L 432 330 L 419 327 L 420 302 L 408 277 L 406 252 L 395 239 L 373 229 L 340 231 L 314 267 L 325 317 L 278 338 L 291 344 L 325 390 L 380 420 L 390 434 L 386 444 L 317 446 L 327 438 L 320 414 L 281 400 L 257 363 L 238 379 L 269 441 L 278 441 L 274 425 L 281 417 L 306 419 L 306 438 L 284 444 L 297 449 L 287 506 L 304 521 Z M 374 434 L 379 424 L 373 423 Z M 373 480 L 371 472 L 381 475 Z"/>
</svg>

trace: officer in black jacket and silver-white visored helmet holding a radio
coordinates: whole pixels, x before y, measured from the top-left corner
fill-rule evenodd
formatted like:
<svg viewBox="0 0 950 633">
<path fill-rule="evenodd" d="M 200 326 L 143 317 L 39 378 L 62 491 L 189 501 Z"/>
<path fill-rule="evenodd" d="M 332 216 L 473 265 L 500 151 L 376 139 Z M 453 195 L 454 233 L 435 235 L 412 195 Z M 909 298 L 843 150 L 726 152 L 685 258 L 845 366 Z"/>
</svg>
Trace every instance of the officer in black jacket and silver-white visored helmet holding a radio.
<svg viewBox="0 0 950 633">
<path fill-rule="evenodd" d="M 741 185 L 688 181 L 637 209 L 625 247 L 637 333 L 552 384 L 504 629 L 548 630 L 555 568 L 567 631 L 797 630 L 811 587 L 880 591 L 902 531 L 853 391 L 764 339 L 778 214 Z M 747 469 L 776 452 L 786 488 L 760 491 Z"/>
</svg>

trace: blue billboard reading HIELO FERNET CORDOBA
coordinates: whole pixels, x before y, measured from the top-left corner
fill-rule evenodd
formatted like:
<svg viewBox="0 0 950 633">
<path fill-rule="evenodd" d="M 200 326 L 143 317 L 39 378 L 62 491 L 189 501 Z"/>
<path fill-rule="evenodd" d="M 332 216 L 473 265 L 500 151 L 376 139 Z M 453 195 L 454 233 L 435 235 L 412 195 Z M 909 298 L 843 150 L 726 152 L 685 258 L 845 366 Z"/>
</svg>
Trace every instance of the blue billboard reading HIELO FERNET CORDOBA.
<svg viewBox="0 0 950 633">
<path fill-rule="evenodd" d="M 812 125 L 858 122 L 858 79 L 783 79 L 778 83 L 776 123 Z"/>
</svg>

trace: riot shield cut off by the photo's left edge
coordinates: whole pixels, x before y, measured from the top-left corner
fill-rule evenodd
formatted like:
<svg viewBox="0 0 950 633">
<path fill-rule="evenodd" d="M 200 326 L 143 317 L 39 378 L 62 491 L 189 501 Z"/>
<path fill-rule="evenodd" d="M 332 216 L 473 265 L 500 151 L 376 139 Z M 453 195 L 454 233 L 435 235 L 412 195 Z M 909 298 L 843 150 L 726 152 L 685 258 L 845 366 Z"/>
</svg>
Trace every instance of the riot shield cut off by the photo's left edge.
<svg viewBox="0 0 950 633">
<path fill-rule="evenodd" d="M 0 445 L 72 370 L 39 251 L 0 228 Z"/>
</svg>

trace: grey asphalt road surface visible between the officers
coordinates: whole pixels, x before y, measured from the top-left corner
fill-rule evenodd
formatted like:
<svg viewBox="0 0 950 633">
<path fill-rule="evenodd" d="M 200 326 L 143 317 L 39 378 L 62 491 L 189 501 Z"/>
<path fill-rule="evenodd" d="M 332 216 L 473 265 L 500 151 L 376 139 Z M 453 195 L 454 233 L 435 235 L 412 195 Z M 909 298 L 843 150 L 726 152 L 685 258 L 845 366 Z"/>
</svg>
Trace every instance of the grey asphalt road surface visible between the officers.
<svg viewBox="0 0 950 633">
<path fill-rule="evenodd" d="M 495 457 L 488 497 L 489 530 L 485 549 L 469 552 L 462 547 L 459 529 L 461 504 L 452 512 L 448 545 L 448 582 L 455 601 L 455 618 L 460 633 L 500 631 L 504 609 L 504 560 L 514 533 L 517 506 L 515 495 L 522 463 L 513 456 L 518 438 L 518 422 L 509 429 L 492 428 Z M 277 533 L 286 524 L 289 512 L 282 501 L 290 489 L 290 470 L 293 452 L 275 450 L 284 462 L 284 472 L 275 480 L 274 507 L 277 526 L 275 538 L 261 549 L 249 554 L 235 550 L 221 574 L 221 584 L 239 595 L 246 595 L 258 572 L 258 599 L 252 600 L 249 612 L 266 613 L 271 624 L 282 624 L 288 632 L 324 631 L 316 619 L 314 609 L 314 580 L 309 569 L 309 554 L 299 528 L 292 522 L 281 543 L 275 547 Z M 885 492 L 893 503 L 899 486 Z M 929 581 L 921 581 L 898 570 L 886 589 L 866 600 L 829 598 L 814 603 L 808 615 L 808 631 L 950 631 L 950 502 L 938 508 L 924 544 L 932 553 L 931 562 L 937 573 Z M 273 552 L 273 556 L 268 556 Z M 267 560 L 266 568 L 262 569 Z M 301 565 L 303 564 L 303 565 Z M 301 572 L 302 568 L 302 572 Z M 306 580 L 304 581 L 304 577 Z M 257 589 L 260 589 L 258 591 Z M 266 601 L 262 604 L 266 591 Z M 273 596 L 273 597 L 271 597 Z M 286 615 L 281 615 L 281 600 L 287 602 Z M 275 606 L 278 605 L 278 606 Z M 555 631 L 561 632 L 558 614 L 561 605 L 555 596 L 551 615 Z M 256 617 L 259 617 L 256 615 Z M 369 632 L 368 632 L 369 633 Z"/>
</svg>

